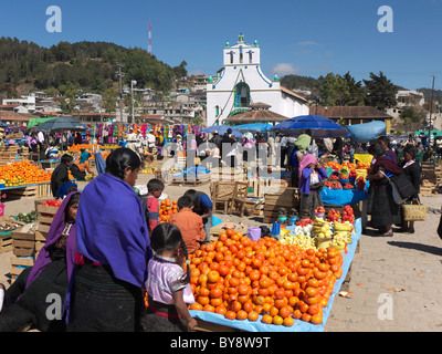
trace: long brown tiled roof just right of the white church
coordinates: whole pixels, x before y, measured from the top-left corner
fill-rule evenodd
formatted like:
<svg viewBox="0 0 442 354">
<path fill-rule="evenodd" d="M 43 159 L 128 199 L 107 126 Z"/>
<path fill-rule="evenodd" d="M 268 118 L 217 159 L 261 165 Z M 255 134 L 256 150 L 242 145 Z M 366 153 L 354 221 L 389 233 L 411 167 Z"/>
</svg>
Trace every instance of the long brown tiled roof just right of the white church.
<svg viewBox="0 0 442 354">
<path fill-rule="evenodd" d="M 311 113 L 326 118 L 391 119 L 392 116 L 371 106 L 313 106 Z"/>
</svg>

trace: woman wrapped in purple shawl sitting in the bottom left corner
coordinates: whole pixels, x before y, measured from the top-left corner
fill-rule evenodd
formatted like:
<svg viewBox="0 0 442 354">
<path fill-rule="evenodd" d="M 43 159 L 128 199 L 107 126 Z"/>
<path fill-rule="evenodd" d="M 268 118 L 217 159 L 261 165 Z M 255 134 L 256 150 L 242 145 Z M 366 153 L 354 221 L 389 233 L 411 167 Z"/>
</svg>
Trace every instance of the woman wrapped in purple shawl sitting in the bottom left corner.
<svg viewBox="0 0 442 354">
<path fill-rule="evenodd" d="M 34 266 L 24 269 L 7 290 L 0 312 L 0 332 L 19 331 L 29 325 L 41 332 L 65 330 L 61 314 L 75 262 L 78 201 L 78 191 L 72 191 L 63 199 Z M 50 294 L 52 302 L 48 302 Z M 48 311 L 54 320 L 49 319 Z"/>
</svg>

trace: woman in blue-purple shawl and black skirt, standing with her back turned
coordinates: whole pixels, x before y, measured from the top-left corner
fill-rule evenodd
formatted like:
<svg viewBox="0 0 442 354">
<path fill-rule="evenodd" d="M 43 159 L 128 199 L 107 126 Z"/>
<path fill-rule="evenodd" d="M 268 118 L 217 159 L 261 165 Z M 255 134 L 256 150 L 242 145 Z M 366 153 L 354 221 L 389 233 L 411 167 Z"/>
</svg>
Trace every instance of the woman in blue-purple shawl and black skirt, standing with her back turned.
<svg viewBox="0 0 442 354">
<path fill-rule="evenodd" d="M 141 202 L 134 191 L 138 155 L 118 148 L 105 174 L 82 192 L 77 257 L 66 295 L 67 331 L 140 330 L 143 288 L 152 257 Z"/>
</svg>

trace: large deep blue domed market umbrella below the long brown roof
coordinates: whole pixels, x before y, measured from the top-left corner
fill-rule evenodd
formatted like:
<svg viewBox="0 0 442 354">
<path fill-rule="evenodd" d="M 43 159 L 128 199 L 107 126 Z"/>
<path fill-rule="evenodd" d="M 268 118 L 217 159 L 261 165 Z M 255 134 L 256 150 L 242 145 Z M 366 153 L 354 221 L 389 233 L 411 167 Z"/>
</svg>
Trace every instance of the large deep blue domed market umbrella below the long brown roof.
<svg viewBox="0 0 442 354">
<path fill-rule="evenodd" d="M 313 138 L 343 137 L 348 135 L 347 129 L 334 121 L 313 114 L 290 118 L 276 124 L 272 131 L 288 136 L 308 134 Z"/>
</svg>

